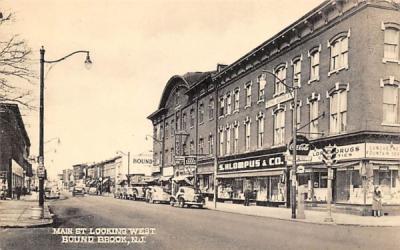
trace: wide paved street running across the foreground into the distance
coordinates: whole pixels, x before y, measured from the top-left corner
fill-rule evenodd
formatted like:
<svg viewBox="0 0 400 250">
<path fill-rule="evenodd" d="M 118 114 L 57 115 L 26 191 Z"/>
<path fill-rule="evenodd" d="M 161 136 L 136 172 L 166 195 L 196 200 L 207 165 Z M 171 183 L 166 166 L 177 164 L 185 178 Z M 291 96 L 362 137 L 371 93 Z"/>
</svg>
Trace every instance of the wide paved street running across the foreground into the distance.
<svg viewBox="0 0 400 250">
<path fill-rule="evenodd" d="M 53 228 L 3 229 L 0 249 L 399 249 L 399 228 L 314 225 L 111 197 L 50 202 Z M 61 243 L 62 228 L 155 228 L 145 243 Z M 131 240 L 130 236 L 127 238 Z M 140 237 L 136 238 L 137 240 Z"/>
</svg>

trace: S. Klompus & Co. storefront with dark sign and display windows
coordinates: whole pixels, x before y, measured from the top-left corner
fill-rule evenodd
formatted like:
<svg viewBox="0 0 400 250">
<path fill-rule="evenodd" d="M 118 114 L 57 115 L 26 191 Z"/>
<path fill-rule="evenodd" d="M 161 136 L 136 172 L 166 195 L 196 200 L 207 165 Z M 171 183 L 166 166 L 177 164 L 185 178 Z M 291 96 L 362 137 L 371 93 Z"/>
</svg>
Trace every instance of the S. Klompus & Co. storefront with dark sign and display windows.
<svg viewBox="0 0 400 250">
<path fill-rule="evenodd" d="M 218 199 L 242 203 L 246 189 L 258 205 L 287 202 L 287 172 L 283 154 L 221 161 L 217 170 Z"/>
</svg>

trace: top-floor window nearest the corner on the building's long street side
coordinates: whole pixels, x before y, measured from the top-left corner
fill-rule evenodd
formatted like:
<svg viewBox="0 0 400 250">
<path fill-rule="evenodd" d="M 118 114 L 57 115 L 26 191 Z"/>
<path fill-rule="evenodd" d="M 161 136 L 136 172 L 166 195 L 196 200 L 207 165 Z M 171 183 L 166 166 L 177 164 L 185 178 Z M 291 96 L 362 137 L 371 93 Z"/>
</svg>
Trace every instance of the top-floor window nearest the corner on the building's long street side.
<svg viewBox="0 0 400 250">
<path fill-rule="evenodd" d="M 342 36 L 334 40 L 331 44 L 331 71 L 338 71 L 348 67 L 347 54 L 349 49 L 349 39 Z"/>
</svg>

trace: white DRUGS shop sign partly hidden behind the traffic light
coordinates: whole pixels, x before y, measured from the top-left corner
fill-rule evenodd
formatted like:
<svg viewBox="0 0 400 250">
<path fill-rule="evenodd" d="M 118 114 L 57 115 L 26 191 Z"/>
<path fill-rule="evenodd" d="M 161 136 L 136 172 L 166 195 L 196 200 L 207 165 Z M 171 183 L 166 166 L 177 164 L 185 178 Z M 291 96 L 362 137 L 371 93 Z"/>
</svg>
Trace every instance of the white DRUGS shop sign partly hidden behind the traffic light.
<svg viewBox="0 0 400 250">
<path fill-rule="evenodd" d="M 365 156 L 364 143 L 337 146 L 336 150 L 337 150 L 336 159 L 338 161 L 360 159 Z M 311 156 L 311 162 L 322 162 L 323 158 L 322 149 L 311 150 L 310 156 Z"/>
</svg>

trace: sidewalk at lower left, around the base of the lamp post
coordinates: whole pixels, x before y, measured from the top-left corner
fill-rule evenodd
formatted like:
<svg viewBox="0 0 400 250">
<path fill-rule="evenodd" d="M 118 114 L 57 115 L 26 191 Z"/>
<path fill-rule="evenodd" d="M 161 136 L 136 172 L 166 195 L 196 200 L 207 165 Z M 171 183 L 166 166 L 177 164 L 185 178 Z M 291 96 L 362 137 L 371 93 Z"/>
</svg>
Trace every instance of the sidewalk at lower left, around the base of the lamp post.
<svg viewBox="0 0 400 250">
<path fill-rule="evenodd" d="M 38 205 L 37 193 L 21 196 L 21 200 L 0 201 L 1 227 L 40 227 L 53 223 L 47 204 Z"/>
</svg>

